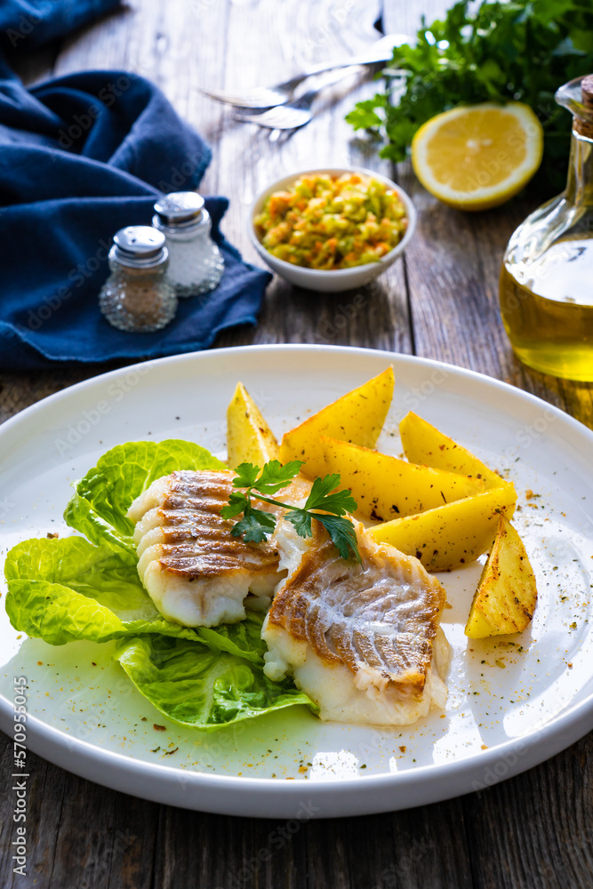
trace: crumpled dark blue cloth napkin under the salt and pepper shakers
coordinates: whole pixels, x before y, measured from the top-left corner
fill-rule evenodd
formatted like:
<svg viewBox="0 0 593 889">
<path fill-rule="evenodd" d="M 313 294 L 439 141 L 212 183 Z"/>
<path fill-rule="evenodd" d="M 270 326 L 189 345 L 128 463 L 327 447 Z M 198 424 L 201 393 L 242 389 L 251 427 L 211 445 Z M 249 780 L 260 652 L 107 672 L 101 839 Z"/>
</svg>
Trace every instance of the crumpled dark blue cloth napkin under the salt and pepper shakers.
<svg viewBox="0 0 593 889">
<path fill-rule="evenodd" d="M 38 0 L 20 41 L 33 4 L 4 0 L 0 26 L 9 44 L 24 48 L 115 5 Z M 156 197 L 196 188 L 210 159 L 143 77 L 85 71 L 26 90 L 0 57 L 0 366 L 174 355 L 206 348 L 231 325 L 254 324 L 271 276 L 221 235 L 224 197 L 205 199 L 225 260 L 215 291 L 180 300 L 172 324 L 154 333 L 117 331 L 98 308 L 116 230 L 149 225 Z"/>
</svg>

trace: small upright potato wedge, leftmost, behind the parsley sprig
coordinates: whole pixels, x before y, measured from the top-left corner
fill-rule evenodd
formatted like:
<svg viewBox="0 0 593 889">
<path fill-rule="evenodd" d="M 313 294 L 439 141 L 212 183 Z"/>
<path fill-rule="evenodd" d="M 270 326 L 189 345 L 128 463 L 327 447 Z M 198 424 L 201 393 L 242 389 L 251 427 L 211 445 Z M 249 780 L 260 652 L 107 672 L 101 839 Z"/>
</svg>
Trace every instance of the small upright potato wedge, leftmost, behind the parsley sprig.
<svg viewBox="0 0 593 889">
<path fill-rule="evenodd" d="M 227 409 L 227 449 L 231 469 L 239 463 L 262 466 L 269 460 L 278 459 L 276 437 L 240 382 L 236 384 L 235 395 Z"/>
</svg>

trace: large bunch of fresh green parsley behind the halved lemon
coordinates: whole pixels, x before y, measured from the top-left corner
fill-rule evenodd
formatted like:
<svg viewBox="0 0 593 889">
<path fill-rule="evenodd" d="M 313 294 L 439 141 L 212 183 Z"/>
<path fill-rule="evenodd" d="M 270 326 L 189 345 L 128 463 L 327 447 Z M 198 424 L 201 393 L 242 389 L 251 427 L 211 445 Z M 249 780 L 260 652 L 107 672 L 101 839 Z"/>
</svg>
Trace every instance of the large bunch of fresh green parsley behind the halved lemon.
<svg viewBox="0 0 593 889">
<path fill-rule="evenodd" d="M 591 0 L 461 0 L 444 21 L 422 18 L 415 45 L 394 50 L 382 72 L 386 92 L 358 102 L 346 119 L 389 139 L 381 156 L 404 160 L 414 133 L 457 105 L 522 101 L 544 128 L 542 172 L 565 184 L 571 117 L 554 101 L 558 86 L 593 71 Z"/>
</svg>

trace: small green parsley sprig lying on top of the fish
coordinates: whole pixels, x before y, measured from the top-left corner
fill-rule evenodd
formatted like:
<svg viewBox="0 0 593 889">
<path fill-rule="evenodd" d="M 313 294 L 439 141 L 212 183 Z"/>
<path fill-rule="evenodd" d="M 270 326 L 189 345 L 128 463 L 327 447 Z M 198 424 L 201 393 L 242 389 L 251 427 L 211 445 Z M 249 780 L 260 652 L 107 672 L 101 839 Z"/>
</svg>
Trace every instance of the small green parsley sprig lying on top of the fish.
<svg viewBox="0 0 593 889">
<path fill-rule="evenodd" d="M 243 513 L 243 518 L 233 525 L 230 533 L 233 537 L 243 537 L 244 541 L 261 543 L 274 531 L 276 517 L 252 504 L 252 493 L 255 492 L 257 500 L 287 509 L 284 518 L 294 526 L 300 537 L 312 535 L 312 521 L 315 519 L 325 527 L 342 558 L 353 556 L 357 562 L 361 562 L 354 525 L 348 518 L 343 518 L 344 513 L 357 509 L 357 501 L 350 491 L 335 490 L 340 485 L 340 476 L 337 473 L 316 478 L 309 497 L 301 508 L 268 496 L 289 485 L 299 475 L 302 465 L 301 460 L 292 460 L 284 466 L 280 461 L 270 460 L 263 469 L 253 463 L 241 463 L 237 466 L 233 485 L 245 490 L 232 493 L 228 498 L 228 506 L 220 511 L 223 518 L 235 518 Z M 317 512 L 319 509 L 323 512 Z"/>
</svg>

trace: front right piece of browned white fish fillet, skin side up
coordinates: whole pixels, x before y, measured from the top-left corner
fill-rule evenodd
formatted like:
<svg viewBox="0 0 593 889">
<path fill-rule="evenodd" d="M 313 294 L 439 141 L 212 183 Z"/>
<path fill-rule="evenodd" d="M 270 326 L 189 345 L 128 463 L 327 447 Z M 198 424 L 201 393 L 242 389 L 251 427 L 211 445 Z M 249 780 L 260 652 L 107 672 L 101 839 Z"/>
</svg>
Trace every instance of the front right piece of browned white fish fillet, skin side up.
<svg viewBox="0 0 593 889">
<path fill-rule="evenodd" d="M 289 574 L 261 632 L 265 672 L 291 674 L 322 719 L 409 725 L 445 706 L 445 590 L 418 559 L 356 525 L 362 565 L 341 559 L 317 523 L 308 541 L 285 521 L 276 528 Z"/>
</svg>

